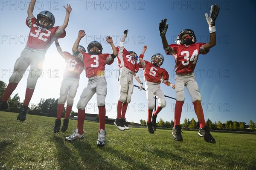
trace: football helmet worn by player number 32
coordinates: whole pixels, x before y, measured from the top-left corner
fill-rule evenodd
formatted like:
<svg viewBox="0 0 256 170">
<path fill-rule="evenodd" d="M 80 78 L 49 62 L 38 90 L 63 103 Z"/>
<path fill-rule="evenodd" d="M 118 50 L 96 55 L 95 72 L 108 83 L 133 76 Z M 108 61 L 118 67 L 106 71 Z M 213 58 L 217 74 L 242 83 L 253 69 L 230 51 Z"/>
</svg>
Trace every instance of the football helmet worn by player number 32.
<svg viewBox="0 0 256 170">
<path fill-rule="evenodd" d="M 43 20 L 44 19 L 44 20 Z M 41 21 L 41 23 L 40 23 Z M 44 23 L 47 23 L 47 26 L 44 26 Z M 42 11 L 37 15 L 36 24 L 41 26 L 43 29 L 52 29 L 55 24 L 55 17 L 49 11 Z"/>
</svg>

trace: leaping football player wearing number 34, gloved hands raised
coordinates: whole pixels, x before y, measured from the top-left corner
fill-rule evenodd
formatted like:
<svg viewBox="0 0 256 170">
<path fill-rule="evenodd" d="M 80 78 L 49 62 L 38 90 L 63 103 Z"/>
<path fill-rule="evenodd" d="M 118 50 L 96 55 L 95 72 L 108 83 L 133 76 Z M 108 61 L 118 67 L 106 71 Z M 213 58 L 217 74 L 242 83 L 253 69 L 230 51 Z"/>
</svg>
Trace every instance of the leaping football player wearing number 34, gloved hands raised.
<svg viewBox="0 0 256 170">
<path fill-rule="evenodd" d="M 195 81 L 194 69 L 198 60 L 199 54 L 207 54 L 209 49 L 216 44 L 215 34 L 215 20 L 218 16 L 219 6 L 212 5 L 210 16 L 205 14 L 207 23 L 209 25 L 210 40 L 209 43 L 196 43 L 196 37 L 191 29 L 185 29 L 181 31 L 177 36 L 177 44 L 170 44 L 166 40 L 166 31 L 168 29 L 167 18 L 161 20 L 159 24 L 160 36 L 162 38 L 163 48 L 167 55 L 173 55 L 175 58 L 175 92 L 176 92 L 176 104 L 175 104 L 175 120 L 174 127 L 172 129 L 172 136 L 177 141 L 183 141 L 180 127 L 180 116 L 182 106 L 185 100 L 184 86 L 188 89 L 191 96 L 192 103 L 195 108 L 195 113 L 200 124 L 198 132 L 199 136 L 203 136 L 204 140 L 210 143 L 215 143 L 215 139 L 209 132 L 208 127 L 205 124 L 204 112 L 201 106 L 201 95 L 199 92 L 198 84 Z"/>
</svg>

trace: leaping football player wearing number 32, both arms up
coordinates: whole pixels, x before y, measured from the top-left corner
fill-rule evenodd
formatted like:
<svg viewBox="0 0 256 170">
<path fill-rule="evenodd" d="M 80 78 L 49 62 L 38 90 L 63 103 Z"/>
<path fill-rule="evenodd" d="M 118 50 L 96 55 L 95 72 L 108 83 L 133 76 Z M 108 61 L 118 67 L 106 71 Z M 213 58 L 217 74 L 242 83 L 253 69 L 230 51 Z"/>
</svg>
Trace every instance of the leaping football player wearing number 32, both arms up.
<svg viewBox="0 0 256 170">
<path fill-rule="evenodd" d="M 30 65 L 24 104 L 20 108 L 19 115 L 17 116 L 17 120 L 19 121 L 26 120 L 29 102 L 34 93 L 37 80 L 41 76 L 41 72 L 38 72 L 38 70 L 42 69 L 45 53 L 57 37 L 65 37 L 65 29 L 72 10 L 70 5 L 67 5 L 67 7 L 64 6 L 66 9 L 66 16 L 63 25 L 53 27 L 55 18 L 51 12 L 42 11 L 37 15 L 37 18 L 34 17 L 33 10 L 35 2 L 36 0 L 31 0 L 27 10 L 28 17 L 26 19 L 26 25 L 30 28 L 29 39 L 25 49 L 23 49 L 14 65 L 13 74 L 9 79 L 9 84 L 0 101 L 0 111 L 8 109 L 7 100 L 23 77 L 24 70 Z"/>
</svg>

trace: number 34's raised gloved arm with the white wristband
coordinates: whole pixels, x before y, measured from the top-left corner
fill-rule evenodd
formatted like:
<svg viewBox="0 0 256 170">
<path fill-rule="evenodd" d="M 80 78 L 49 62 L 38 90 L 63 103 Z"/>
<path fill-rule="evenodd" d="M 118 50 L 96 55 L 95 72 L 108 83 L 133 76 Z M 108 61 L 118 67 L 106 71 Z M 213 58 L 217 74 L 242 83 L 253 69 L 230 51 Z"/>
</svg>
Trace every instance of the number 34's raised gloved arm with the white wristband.
<svg viewBox="0 0 256 170">
<path fill-rule="evenodd" d="M 208 17 L 208 14 L 205 13 L 205 17 L 209 25 L 209 32 L 210 32 L 210 41 L 209 43 L 204 44 L 205 51 L 209 50 L 210 48 L 216 45 L 215 20 L 218 16 L 219 11 L 220 11 L 220 7 L 214 4 L 211 6 L 210 16 Z"/>
</svg>

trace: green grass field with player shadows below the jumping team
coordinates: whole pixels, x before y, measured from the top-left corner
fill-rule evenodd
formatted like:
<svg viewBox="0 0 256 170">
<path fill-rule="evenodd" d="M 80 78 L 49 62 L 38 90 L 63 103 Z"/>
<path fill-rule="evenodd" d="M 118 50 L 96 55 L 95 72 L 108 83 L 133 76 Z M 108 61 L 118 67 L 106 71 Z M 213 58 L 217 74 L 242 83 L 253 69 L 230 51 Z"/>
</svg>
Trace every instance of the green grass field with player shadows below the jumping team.
<svg viewBox="0 0 256 170">
<path fill-rule="evenodd" d="M 66 132 L 53 133 L 55 118 L 0 112 L 0 169 L 39 170 L 255 170 L 256 135 L 212 133 L 210 144 L 197 132 L 183 131 L 183 142 L 171 130 L 148 133 L 145 128 L 119 131 L 106 125 L 107 144 L 97 147 L 99 124 L 85 121 L 85 138 L 64 141 Z"/>
</svg>

